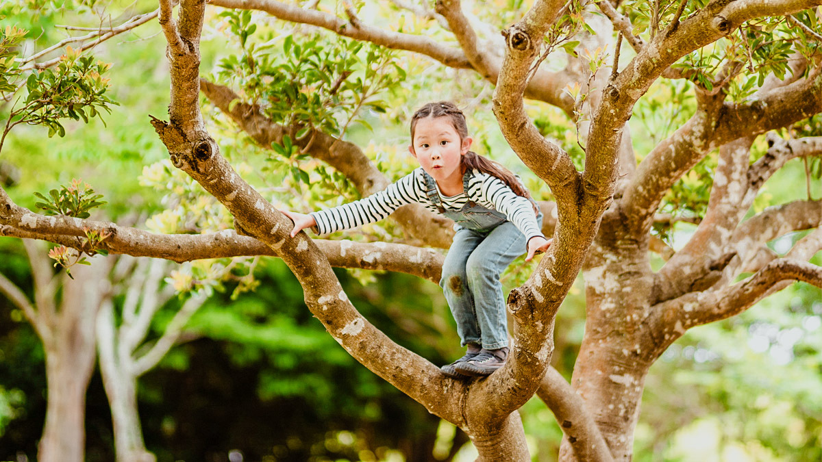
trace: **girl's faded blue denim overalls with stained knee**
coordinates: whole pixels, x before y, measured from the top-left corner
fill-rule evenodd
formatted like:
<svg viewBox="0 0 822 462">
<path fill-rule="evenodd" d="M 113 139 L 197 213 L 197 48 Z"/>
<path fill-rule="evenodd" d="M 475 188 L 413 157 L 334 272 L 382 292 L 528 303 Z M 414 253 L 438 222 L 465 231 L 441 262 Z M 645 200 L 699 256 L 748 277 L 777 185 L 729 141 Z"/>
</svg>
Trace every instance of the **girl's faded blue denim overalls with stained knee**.
<svg viewBox="0 0 822 462">
<path fill-rule="evenodd" d="M 468 194 L 469 170 L 463 175 Z M 454 242 L 442 264 L 440 287 L 457 324 L 462 345 L 485 349 L 508 346 L 506 303 L 500 274 L 526 251 L 525 236 L 499 211 L 469 200 L 460 210 L 448 210 L 436 190 L 436 181 L 425 173 L 426 195 L 442 215 L 457 226 Z M 538 210 L 538 209 L 537 209 Z M 543 214 L 537 216 L 539 226 Z"/>
</svg>

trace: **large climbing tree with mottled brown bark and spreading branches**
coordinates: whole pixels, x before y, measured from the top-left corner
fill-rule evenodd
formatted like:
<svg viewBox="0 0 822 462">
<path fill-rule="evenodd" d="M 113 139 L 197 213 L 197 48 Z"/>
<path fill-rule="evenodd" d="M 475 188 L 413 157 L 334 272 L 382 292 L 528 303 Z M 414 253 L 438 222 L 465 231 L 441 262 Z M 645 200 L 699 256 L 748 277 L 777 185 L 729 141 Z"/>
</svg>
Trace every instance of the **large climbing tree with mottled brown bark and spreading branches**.
<svg viewBox="0 0 822 462">
<path fill-rule="evenodd" d="M 278 256 L 300 280 L 309 309 L 330 335 L 372 372 L 464 429 L 482 460 L 528 458 L 517 409 L 534 393 L 561 423 L 561 459 L 630 459 L 644 378 L 668 345 L 692 327 L 736 316 L 792 280 L 822 286 L 822 270 L 810 262 L 822 247 L 820 201 L 809 195 L 750 214 L 764 182 L 788 160 L 820 155 L 820 119 L 814 117 L 822 112 L 818 0 L 598 2 L 610 25 L 584 3 L 536 1 L 525 8 L 510 2 L 510 11 L 490 27 L 455 0 L 436 2 L 434 11 L 393 3 L 391 15 L 406 17 L 401 11 L 409 10 L 423 20 L 405 32 L 401 22 L 396 31 L 368 25 L 351 2 L 339 7 L 346 19 L 318 2 L 302 7 L 271 0 L 210 2 L 229 10 L 229 25 L 241 44 L 243 59 L 224 64 L 227 72 L 242 77 L 235 91 L 224 85 L 228 81 L 201 76 L 205 3 L 183 1 L 175 15 L 173 3 L 160 0 L 172 85 L 169 122 L 151 122 L 174 167 L 220 201 L 241 233 L 161 235 L 46 217 L 16 206 L 0 192 L 4 233 L 69 245 L 68 237 L 85 235 L 85 227 L 109 234 L 95 243 L 100 249 L 175 261 Z M 443 67 L 477 72 L 494 85 L 492 105 L 501 132 L 551 189 L 552 201 L 543 209 L 552 218 L 545 230 L 555 239 L 529 280 L 510 294 L 515 347 L 500 372 L 470 381 L 441 376 L 434 365 L 363 318 L 330 270 L 400 270 L 436 280 L 437 252 L 408 244 L 314 240 L 304 233 L 291 239 L 290 221 L 221 155 L 201 113 L 201 92 L 252 139 L 285 158 L 322 160 L 363 195 L 388 183 L 363 150 L 346 140 L 347 124 L 340 127 L 334 113 L 323 112 L 344 107 L 336 92 L 352 88 L 344 87 L 350 75 L 345 63 L 335 81 L 320 83 L 321 75 L 333 75 L 333 69 L 315 72 L 316 89 L 321 89 L 316 94 L 327 96 L 326 101 L 307 98 L 302 89 L 286 85 L 287 79 L 279 80 L 281 74 L 266 74 L 275 67 L 266 61 L 274 53 L 255 54 L 248 37 L 257 25 L 252 15 L 231 12 L 239 9 L 419 53 Z M 516 22 L 503 29 L 504 21 Z M 435 22 L 439 28 L 432 37 L 424 35 Z M 504 40 L 483 37 L 489 28 L 502 30 Z M 455 39 L 459 48 L 443 44 L 443 36 Z M 283 54 L 293 54 L 289 49 L 284 45 Z M 552 72 L 547 58 L 559 55 L 568 64 Z M 647 143 L 632 140 L 626 124 L 644 110 L 640 103 L 649 90 L 669 92 L 680 101 L 681 113 L 667 121 L 679 124 L 676 130 L 638 162 L 634 146 Z M 365 102 L 371 95 L 360 96 Z M 579 146 L 548 136 L 556 124 L 532 119 L 525 99 L 561 109 L 567 115 L 565 130 L 575 130 Z M 717 165 L 709 172 L 703 162 L 715 150 Z M 288 167 L 298 178 L 305 173 Z M 713 180 L 709 194 L 700 196 L 680 182 L 690 176 Z M 695 197 L 682 200 L 687 194 Z M 413 207 L 395 219 L 423 243 L 448 244 L 444 219 Z M 660 237 L 686 220 L 698 226 L 686 246 L 674 252 Z M 806 229 L 812 231 L 784 256 L 766 246 Z M 666 260 L 656 271 L 652 251 Z M 550 367 L 552 335 L 556 311 L 580 270 L 586 328 L 569 384 Z"/>
</svg>

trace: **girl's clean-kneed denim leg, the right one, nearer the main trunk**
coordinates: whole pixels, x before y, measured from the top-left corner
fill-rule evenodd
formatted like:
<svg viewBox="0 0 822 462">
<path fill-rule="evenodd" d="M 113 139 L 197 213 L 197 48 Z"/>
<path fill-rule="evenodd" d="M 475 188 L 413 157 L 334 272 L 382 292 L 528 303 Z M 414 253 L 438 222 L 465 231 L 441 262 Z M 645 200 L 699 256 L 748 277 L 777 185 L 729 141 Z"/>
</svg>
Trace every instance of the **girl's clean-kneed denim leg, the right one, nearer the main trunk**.
<svg viewBox="0 0 822 462">
<path fill-rule="evenodd" d="M 506 302 L 500 274 L 525 250 L 523 233 L 506 222 L 488 233 L 466 262 L 469 291 L 473 294 L 484 349 L 508 346 Z"/>
</svg>

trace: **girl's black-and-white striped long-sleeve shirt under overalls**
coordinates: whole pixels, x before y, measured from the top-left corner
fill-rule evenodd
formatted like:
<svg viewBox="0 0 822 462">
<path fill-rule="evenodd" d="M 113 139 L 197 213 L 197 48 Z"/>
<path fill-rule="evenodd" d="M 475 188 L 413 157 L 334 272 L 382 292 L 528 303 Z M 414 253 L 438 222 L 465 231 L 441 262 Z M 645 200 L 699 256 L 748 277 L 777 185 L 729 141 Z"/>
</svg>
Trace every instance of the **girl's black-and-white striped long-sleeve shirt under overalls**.
<svg viewBox="0 0 822 462">
<path fill-rule="evenodd" d="M 437 187 L 437 192 L 439 193 L 439 187 Z M 523 196 L 517 196 L 505 182 L 488 173 L 473 170 L 468 191 L 456 196 L 444 196 L 440 193 L 440 197 L 442 205 L 449 210 L 460 210 L 471 200 L 479 206 L 501 212 L 506 215 L 508 221 L 520 229 L 520 232 L 525 235 L 526 242 L 534 236 L 544 237 L 533 213 L 531 201 Z M 316 221 L 318 233 L 326 234 L 374 223 L 386 218 L 399 206 L 412 203 L 422 204 L 428 210 L 438 212 L 437 204 L 432 203 L 426 195 L 422 167 L 414 169 L 413 172 L 391 183 L 386 189 L 371 196 L 332 209 L 312 212 L 310 215 Z"/>
</svg>

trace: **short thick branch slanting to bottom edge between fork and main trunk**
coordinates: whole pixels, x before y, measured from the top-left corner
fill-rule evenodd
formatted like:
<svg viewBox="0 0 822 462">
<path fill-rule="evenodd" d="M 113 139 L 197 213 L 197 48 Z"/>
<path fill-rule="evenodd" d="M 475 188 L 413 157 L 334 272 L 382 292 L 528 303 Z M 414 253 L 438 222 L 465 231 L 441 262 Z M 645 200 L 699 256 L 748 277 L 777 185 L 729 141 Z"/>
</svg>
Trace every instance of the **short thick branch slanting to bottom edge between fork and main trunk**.
<svg viewBox="0 0 822 462">
<path fill-rule="evenodd" d="M 607 0 L 606 0 L 607 1 Z M 580 395 L 553 367 L 548 367 L 537 395 L 554 413 L 562 427 L 577 460 L 607 462 L 613 460 L 611 451 L 599 432 L 599 427 Z"/>
</svg>

